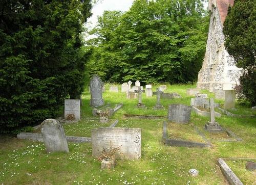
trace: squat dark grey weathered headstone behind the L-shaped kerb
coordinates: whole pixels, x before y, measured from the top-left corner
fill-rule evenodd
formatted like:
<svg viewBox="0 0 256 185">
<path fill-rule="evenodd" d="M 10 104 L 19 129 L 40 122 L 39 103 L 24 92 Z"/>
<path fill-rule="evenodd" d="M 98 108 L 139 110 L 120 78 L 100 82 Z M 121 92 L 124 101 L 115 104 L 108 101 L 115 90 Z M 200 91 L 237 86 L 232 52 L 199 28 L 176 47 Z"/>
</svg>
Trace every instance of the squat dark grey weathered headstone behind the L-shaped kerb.
<svg viewBox="0 0 256 185">
<path fill-rule="evenodd" d="M 191 113 L 190 106 L 184 104 L 170 104 L 168 109 L 168 120 L 176 123 L 188 123 Z"/>
</svg>

